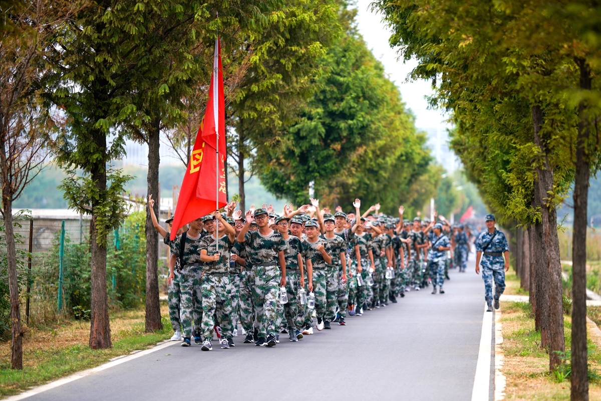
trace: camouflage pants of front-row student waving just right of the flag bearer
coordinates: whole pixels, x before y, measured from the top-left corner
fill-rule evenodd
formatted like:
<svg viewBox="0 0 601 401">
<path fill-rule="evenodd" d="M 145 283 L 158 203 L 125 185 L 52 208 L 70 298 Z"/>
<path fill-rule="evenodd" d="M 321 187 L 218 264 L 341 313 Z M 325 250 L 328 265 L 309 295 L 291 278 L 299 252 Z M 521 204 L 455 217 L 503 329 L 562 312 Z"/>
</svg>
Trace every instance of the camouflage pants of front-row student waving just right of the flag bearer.
<svg viewBox="0 0 601 401">
<path fill-rule="evenodd" d="M 252 266 L 249 279 L 252 286 L 252 303 L 258 320 L 258 337 L 276 334 L 276 302 L 281 277 L 279 266 Z"/>
</svg>

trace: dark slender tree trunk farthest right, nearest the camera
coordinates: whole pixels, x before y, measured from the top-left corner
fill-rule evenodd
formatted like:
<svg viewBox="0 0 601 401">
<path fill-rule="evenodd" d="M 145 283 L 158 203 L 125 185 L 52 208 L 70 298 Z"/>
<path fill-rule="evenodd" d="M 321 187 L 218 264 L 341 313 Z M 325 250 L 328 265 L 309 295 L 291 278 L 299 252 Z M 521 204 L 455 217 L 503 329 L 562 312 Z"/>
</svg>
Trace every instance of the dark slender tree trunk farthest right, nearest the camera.
<svg viewBox="0 0 601 401">
<path fill-rule="evenodd" d="M 576 60 L 580 67 L 580 87 L 591 89 L 591 75 L 585 60 Z M 576 181 L 574 184 L 574 226 L 572 237 L 572 401 L 588 400 L 587 367 L 587 207 L 590 161 L 586 143 L 588 129 L 587 105 L 578 106 L 578 142 L 576 144 Z"/>
</svg>

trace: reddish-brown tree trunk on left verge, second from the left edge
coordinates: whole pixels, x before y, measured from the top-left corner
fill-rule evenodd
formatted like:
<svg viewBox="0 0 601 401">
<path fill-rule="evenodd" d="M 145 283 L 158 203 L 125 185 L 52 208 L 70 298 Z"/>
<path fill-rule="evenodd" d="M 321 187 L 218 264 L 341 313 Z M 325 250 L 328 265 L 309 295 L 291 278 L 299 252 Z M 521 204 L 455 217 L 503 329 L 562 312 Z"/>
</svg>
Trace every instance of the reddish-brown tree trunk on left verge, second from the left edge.
<svg viewBox="0 0 601 401">
<path fill-rule="evenodd" d="M 96 132 L 96 143 L 101 149 L 106 149 L 106 136 L 103 132 Z M 94 164 L 90 171 L 92 180 L 100 192 L 106 191 L 106 165 L 104 161 Z M 106 234 L 98 236 L 96 227 L 97 210 L 100 204 L 92 199 L 92 221 L 94 226 L 90 238 L 92 250 L 91 271 L 91 305 L 90 305 L 90 348 L 105 349 L 112 347 L 111 326 L 109 321 L 108 295 L 106 293 Z M 102 213 L 102 212 L 101 212 Z"/>
</svg>

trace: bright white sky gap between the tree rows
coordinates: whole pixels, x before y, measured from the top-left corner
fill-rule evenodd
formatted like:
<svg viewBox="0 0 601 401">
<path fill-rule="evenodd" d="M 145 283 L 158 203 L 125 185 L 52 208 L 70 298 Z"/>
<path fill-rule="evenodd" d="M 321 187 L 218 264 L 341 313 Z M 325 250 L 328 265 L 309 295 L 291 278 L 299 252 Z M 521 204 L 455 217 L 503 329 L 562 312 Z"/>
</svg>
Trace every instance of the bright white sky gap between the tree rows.
<svg viewBox="0 0 601 401">
<path fill-rule="evenodd" d="M 372 13 L 368 7 L 373 0 L 358 0 L 356 2 L 359 32 L 367 42 L 374 56 L 384 65 L 391 81 L 394 81 L 403 97 L 403 102 L 415 115 L 415 126 L 418 128 L 447 127 L 444 123 L 445 116 L 441 111 L 427 109 L 425 96 L 432 94 L 432 87 L 428 81 L 407 81 L 407 75 L 417 65 L 415 60 L 403 63 L 397 61 L 397 49 L 392 49 L 388 44 L 390 31 L 381 21 L 380 14 Z"/>
</svg>

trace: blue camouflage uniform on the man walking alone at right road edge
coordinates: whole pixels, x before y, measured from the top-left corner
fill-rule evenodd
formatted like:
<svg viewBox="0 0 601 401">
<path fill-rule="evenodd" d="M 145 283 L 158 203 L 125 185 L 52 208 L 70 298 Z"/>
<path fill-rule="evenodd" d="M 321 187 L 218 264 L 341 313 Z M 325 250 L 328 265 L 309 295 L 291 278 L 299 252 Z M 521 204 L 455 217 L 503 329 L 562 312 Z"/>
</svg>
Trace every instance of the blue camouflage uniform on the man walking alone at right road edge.
<svg viewBox="0 0 601 401">
<path fill-rule="evenodd" d="M 490 242 L 493 235 L 494 238 Z M 489 243 L 490 245 L 487 246 Z M 484 249 L 485 247 L 486 249 Z M 493 280 L 495 281 L 495 300 L 498 300 L 505 290 L 505 259 L 503 253 L 509 251 L 507 238 L 505 238 L 505 234 L 496 228 L 492 234 L 488 230 L 483 231 L 476 240 L 476 251 L 483 253 L 480 265 L 482 266 L 482 279 L 484 280 L 484 298 L 486 303 L 491 305 Z"/>
</svg>

